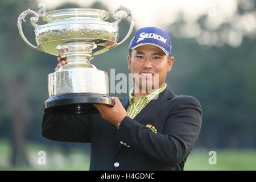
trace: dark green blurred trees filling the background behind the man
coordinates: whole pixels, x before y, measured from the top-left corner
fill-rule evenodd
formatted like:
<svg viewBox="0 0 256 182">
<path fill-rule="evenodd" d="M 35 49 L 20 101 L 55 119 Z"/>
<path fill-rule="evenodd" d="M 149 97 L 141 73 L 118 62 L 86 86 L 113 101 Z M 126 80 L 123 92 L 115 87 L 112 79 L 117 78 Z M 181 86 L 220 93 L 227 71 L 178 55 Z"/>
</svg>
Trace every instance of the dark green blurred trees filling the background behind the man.
<svg viewBox="0 0 256 182">
<path fill-rule="evenodd" d="M 68 7 L 78 6 L 65 4 L 56 9 Z M 93 3 L 92 7 L 108 10 L 100 2 Z M 41 134 L 43 103 L 48 97 L 47 75 L 54 71 L 57 61 L 55 56 L 28 47 L 20 38 L 16 22 L 19 14 L 28 8 L 38 10 L 35 1 L 0 1 L 0 137 L 11 138 L 13 165 L 29 163 L 24 149 L 26 139 L 59 144 L 44 139 Z M 34 28 L 29 18 L 23 22 L 23 32 L 35 45 Z M 200 26 L 203 26 L 202 18 L 198 20 Z M 179 23 L 182 22 L 172 27 Z M 129 26 L 128 19 L 119 24 L 119 41 L 125 37 Z M 111 68 L 115 68 L 115 75 L 128 75 L 127 47 L 135 30 L 136 27 L 122 46 L 95 56 L 92 64 L 108 72 L 109 76 Z M 197 146 L 255 147 L 255 39 L 245 37 L 236 48 L 226 44 L 210 47 L 200 45 L 193 38 L 176 38 L 172 28 L 166 31 L 170 32 L 175 57 L 166 82 L 175 93 L 196 97 L 203 107 L 203 125 Z M 127 94 L 110 95 L 125 97 Z"/>
</svg>

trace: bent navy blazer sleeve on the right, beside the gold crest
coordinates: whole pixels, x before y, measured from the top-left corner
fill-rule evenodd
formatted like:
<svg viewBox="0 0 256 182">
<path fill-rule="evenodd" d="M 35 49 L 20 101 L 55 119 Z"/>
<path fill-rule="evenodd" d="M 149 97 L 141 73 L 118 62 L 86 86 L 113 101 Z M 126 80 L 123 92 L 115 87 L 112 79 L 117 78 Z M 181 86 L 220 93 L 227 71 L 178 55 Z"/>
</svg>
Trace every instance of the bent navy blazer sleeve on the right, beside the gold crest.
<svg viewBox="0 0 256 182">
<path fill-rule="evenodd" d="M 118 130 L 118 140 L 134 150 L 148 154 L 159 162 L 174 167 L 188 156 L 196 143 L 201 129 L 201 106 L 190 96 L 173 98 L 173 107 L 164 122 L 164 131 L 154 133 L 148 127 L 131 119 L 123 118 Z"/>
</svg>

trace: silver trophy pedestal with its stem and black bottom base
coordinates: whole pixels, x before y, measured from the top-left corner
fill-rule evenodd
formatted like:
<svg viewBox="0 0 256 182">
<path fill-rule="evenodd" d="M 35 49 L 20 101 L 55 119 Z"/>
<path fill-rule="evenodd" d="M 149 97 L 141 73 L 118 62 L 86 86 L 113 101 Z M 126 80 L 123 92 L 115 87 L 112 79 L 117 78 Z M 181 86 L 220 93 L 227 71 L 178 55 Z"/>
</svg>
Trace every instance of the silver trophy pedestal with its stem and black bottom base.
<svg viewBox="0 0 256 182">
<path fill-rule="evenodd" d="M 94 47 L 89 42 L 68 42 L 57 47 L 60 55 L 68 57 L 68 63 L 48 75 L 49 98 L 44 102 L 44 111 L 92 114 L 98 113 L 93 104 L 114 106 L 108 93 L 108 73 L 90 64 Z"/>
</svg>

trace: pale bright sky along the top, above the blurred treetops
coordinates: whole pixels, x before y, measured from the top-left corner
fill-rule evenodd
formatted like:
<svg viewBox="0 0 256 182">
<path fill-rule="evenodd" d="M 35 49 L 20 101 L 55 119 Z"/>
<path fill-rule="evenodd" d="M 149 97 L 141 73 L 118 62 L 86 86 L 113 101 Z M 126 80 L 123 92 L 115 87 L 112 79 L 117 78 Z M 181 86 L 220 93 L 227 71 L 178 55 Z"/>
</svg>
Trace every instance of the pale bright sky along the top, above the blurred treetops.
<svg viewBox="0 0 256 182">
<path fill-rule="evenodd" d="M 37 0 L 38 5 L 46 7 L 46 11 L 55 9 L 61 3 L 77 3 L 80 7 L 89 7 L 96 0 Z M 167 26 L 177 22 L 182 15 L 184 24 L 178 30 L 179 35 L 185 38 L 196 38 L 197 42 L 206 45 L 222 46 L 227 43 L 230 46 L 238 47 L 242 43 L 243 35 L 256 35 L 256 12 L 237 15 L 237 5 L 240 3 L 243 9 L 250 10 L 254 7 L 253 0 L 99 0 L 110 13 L 119 5 L 129 8 L 135 19 L 137 28 L 145 26 L 156 26 L 166 30 Z M 205 27 L 201 30 L 196 20 L 202 15 L 207 15 Z M 223 23 L 230 23 L 231 28 L 222 32 L 217 29 Z"/>
</svg>

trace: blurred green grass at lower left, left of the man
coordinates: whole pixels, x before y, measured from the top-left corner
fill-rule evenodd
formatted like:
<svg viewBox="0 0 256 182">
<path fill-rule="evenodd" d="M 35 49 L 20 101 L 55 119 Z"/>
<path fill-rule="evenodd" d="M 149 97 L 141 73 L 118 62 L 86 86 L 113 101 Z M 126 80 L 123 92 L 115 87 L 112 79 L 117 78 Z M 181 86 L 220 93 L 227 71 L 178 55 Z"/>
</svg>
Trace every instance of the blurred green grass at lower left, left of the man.
<svg viewBox="0 0 256 182">
<path fill-rule="evenodd" d="M 26 151 L 30 166 L 11 167 L 10 144 L 6 140 L 0 140 L 0 171 L 1 170 L 88 170 L 90 156 L 85 150 L 72 148 L 69 155 L 63 153 L 59 146 L 44 146 L 37 143 L 26 144 Z M 38 164 L 39 151 L 46 152 L 46 164 Z"/>
</svg>

